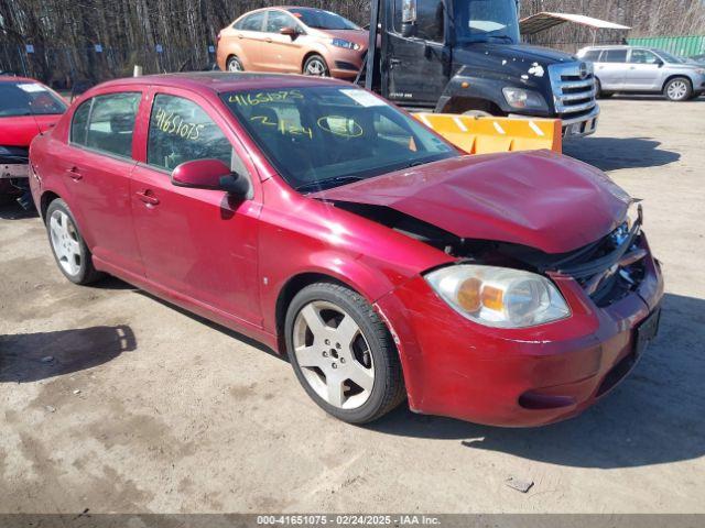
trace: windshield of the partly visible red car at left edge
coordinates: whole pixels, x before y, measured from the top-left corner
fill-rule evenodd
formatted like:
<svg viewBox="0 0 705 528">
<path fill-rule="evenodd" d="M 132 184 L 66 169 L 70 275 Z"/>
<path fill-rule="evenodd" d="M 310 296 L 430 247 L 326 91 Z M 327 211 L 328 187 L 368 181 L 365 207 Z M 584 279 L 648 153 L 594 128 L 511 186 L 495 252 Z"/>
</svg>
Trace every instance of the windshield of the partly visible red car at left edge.
<svg viewBox="0 0 705 528">
<path fill-rule="evenodd" d="M 64 113 L 66 103 L 39 82 L 0 82 L 0 118 Z"/>
</svg>

